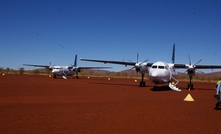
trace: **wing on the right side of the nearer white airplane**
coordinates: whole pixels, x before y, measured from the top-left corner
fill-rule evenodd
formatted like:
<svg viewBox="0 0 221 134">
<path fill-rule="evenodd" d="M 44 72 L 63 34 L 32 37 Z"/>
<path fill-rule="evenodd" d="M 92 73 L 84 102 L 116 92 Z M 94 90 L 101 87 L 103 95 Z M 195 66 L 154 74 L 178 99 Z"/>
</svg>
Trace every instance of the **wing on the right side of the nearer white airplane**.
<svg viewBox="0 0 221 134">
<path fill-rule="evenodd" d="M 174 68 L 188 68 L 188 64 L 174 64 Z M 194 65 L 195 69 L 221 69 L 221 65 Z"/>
</svg>

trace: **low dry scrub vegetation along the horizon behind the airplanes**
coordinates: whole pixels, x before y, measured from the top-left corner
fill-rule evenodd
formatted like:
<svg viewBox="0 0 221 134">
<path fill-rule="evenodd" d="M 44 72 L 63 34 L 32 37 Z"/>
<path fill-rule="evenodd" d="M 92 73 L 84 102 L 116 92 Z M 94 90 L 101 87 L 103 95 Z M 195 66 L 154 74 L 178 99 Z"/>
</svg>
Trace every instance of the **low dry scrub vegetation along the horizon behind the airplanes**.
<svg viewBox="0 0 221 134">
<path fill-rule="evenodd" d="M 18 70 L 10 68 L 0 68 L 0 74 L 18 74 L 18 75 L 51 75 L 51 71 L 44 68 L 38 68 L 34 70 L 25 70 L 24 68 L 19 68 Z M 110 72 L 106 70 L 81 70 L 79 76 L 84 77 L 115 77 L 115 78 L 134 78 L 141 79 L 140 74 L 136 73 L 134 70 L 124 70 L 121 72 Z M 189 77 L 185 73 L 178 73 L 174 76 L 179 81 L 189 81 Z M 145 77 L 147 78 L 147 77 Z M 196 73 L 194 76 L 194 81 L 201 82 L 216 82 L 221 78 L 221 72 L 213 73 Z"/>
</svg>

